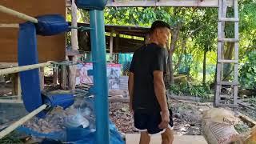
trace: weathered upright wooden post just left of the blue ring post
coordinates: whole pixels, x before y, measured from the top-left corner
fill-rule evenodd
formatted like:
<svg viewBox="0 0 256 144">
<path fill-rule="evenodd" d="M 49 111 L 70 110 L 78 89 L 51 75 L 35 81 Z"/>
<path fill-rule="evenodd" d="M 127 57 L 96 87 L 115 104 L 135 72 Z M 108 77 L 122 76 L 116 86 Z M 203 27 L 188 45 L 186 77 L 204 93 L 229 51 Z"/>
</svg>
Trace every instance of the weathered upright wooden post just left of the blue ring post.
<svg viewBox="0 0 256 144">
<path fill-rule="evenodd" d="M 72 1 L 72 6 L 71 6 L 71 11 L 72 11 L 72 22 L 71 26 L 78 26 L 77 22 L 77 12 L 78 8 L 75 5 L 74 1 Z M 72 50 L 78 50 L 78 30 L 77 29 L 72 29 L 71 30 L 71 46 Z M 70 58 L 71 61 L 77 61 L 77 56 L 74 55 Z M 71 90 L 75 89 L 75 74 L 76 74 L 76 65 L 74 66 L 69 66 L 69 86 Z"/>
</svg>

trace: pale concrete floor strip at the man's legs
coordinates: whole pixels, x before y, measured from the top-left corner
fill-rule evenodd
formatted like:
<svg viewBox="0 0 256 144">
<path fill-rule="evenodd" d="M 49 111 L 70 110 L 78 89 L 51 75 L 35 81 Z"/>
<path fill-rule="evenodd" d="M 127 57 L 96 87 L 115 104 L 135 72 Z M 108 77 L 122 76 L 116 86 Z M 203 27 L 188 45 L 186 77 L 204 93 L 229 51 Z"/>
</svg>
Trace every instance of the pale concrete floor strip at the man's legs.
<svg viewBox="0 0 256 144">
<path fill-rule="evenodd" d="M 140 134 L 126 134 L 126 144 L 138 144 Z M 161 135 L 151 137 L 150 144 L 161 144 Z M 175 135 L 173 144 L 207 144 L 202 135 Z"/>
</svg>

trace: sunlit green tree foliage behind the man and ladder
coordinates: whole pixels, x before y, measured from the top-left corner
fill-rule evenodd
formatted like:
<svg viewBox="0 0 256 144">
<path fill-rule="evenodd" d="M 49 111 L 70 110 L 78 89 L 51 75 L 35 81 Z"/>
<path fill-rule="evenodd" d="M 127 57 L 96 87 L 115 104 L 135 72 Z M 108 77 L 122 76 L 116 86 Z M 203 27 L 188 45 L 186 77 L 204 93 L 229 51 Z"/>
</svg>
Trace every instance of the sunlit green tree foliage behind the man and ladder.
<svg viewBox="0 0 256 144">
<path fill-rule="evenodd" d="M 252 87 L 255 83 L 249 80 L 254 75 L 256 48 L 256 1 L 241 0 L 239 4 L 239 80 L 242 86 Z M 88 22 L 88 13 L 81 11 L 83 22 Z M 202 82 L 202 71 L 205 68 L 206 82 L 214 81 L 216 50 L 218 38 L 217 8 L 184 8 L 184 7 L 107 7 L 105 23 L 121 26 L 150 26 L 155 20 L 168 22 L 172 27 L 174 54 L 172 62 L 174 73 L 189 68 L 190 79 Z M 228 8 L 227 17 L 234 17 L 234 10 Z M 226 38 L 234 38 L 234 23 L 226 22 Z M 226 46 L 226 55 L 234 50 Z M 227 56 L 226 56 L 227 57 Z M 203 66 L 205 61 L 206 66 Z M 230 68 L 230 70 L 232 70 Z M 250 71 L 250 72 L 249 72 Z M 250 73 L 248 75 L 248 73 Z"/>
</svg>

